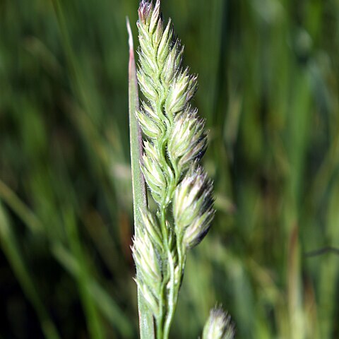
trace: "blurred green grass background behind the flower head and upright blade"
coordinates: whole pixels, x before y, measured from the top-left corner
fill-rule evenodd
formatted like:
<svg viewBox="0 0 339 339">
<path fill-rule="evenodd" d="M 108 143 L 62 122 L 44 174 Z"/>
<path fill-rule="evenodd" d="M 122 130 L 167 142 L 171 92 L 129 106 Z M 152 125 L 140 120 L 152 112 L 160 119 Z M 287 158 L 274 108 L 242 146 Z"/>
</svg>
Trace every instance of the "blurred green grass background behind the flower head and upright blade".
<svg viewBox="0 0 339 339">
<path fill-rule="evenodd" d="M 137 8 L 0 1 L 0 338 L 137 338 L 125 25 Z M 218 210 L 172 338 L 197 338 L 215 302 L 237 338 L 339 338 L 338 1 L 162 11 L 199 74 Z"/>
</svg>

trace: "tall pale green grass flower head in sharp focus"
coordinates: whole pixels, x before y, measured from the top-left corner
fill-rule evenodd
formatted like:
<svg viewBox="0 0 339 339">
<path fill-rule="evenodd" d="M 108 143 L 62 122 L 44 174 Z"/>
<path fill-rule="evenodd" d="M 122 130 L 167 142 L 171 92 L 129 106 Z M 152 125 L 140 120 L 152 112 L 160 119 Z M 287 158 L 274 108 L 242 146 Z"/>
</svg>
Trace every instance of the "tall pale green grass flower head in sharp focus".
<svg viewBox="0 0 339 339">
<path fill-rule="evenodd" d="M 145 97 L 136 117 L 145 136 L 141 168 L 157 210 L 143 213 L 133 239 L 136 283 L 153 312 L 158 339 L 169 336 L 186 253 L 213 220 L 213 185 L 198 162 L 206 151 L 205 121 L 190 100 L 197 78 L 182 68 L 183 47 L 164 26 L 160 1 L 141 1 L 138 84 Z"/>
</svg>

